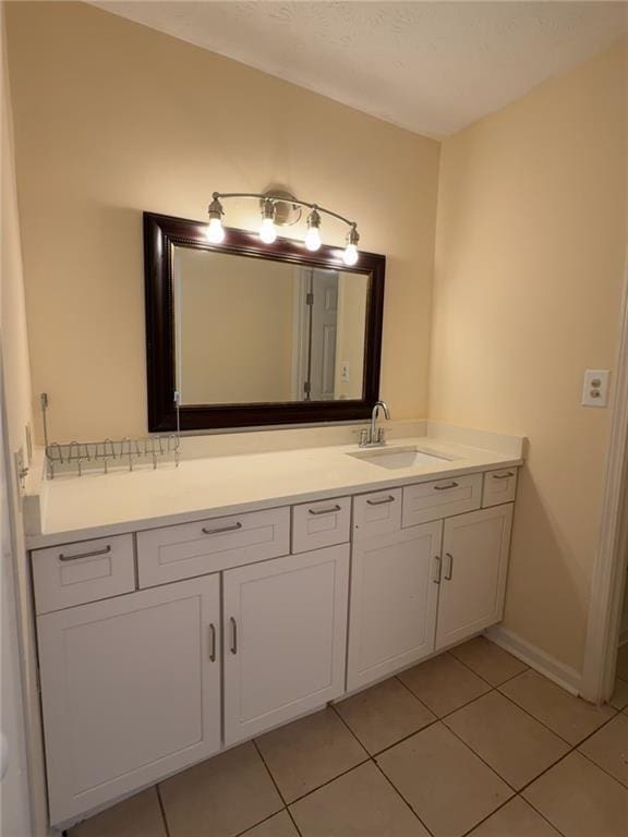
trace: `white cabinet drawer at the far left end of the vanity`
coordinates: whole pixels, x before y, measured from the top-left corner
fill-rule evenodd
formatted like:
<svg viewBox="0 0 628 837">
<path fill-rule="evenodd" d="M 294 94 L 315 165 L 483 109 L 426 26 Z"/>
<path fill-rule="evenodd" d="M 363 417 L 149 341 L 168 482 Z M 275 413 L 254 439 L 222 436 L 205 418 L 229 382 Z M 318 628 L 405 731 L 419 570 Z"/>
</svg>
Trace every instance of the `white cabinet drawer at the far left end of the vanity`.
<svg viewBox="0 0 628 837">
<path fill-rule="evenodd" d="M 35 549 L 32 561 L 38 614 L 135 590 L 133 535 Z"/>
</svg>

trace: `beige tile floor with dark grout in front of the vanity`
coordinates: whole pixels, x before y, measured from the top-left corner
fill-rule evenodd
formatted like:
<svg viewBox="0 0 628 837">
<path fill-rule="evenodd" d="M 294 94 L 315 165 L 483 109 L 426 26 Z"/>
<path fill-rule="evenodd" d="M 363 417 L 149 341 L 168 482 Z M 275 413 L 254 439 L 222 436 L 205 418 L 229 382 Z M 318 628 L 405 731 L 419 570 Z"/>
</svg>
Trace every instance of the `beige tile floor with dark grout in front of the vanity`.
<svg viewBox="0 0 628 837">
<path fill-rule="evenodd" d="M 596 708 L 471 640 L 69 837 L 627 837 L 625 648 Z"/>
</svg>

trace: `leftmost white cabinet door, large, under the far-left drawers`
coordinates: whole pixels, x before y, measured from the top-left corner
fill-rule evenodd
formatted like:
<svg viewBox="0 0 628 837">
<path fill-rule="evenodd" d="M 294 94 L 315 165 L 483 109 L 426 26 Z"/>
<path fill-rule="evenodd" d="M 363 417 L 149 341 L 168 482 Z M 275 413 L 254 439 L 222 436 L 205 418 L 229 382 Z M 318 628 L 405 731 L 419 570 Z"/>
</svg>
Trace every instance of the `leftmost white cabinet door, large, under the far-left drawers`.
<svg viewBox="0 0 628 837">
<path fill-rule="evenodd" d="M 219 581 L 37 620 L 51 823 L 220 748 Z"/>
</svg>

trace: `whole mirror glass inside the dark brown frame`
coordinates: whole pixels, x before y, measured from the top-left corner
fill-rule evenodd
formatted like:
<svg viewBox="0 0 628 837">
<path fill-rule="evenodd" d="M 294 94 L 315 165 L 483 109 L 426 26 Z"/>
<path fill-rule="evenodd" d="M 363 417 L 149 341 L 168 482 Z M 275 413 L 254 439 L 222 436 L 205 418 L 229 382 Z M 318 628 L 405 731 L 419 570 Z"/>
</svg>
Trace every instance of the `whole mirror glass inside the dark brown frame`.
<svg viewBox="0 0 628 837">
<path fill-rule="evenodd" d="M 182 405 L 360 400 L 370 275 L 173 245 Z"/>
</svg>

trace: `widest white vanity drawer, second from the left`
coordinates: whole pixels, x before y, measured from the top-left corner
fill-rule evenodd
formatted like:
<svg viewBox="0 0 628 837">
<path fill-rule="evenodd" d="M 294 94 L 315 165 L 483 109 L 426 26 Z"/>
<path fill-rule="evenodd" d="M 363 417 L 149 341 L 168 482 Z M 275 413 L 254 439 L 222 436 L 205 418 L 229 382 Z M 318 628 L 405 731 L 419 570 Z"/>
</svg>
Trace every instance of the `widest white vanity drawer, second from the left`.
<svg viewBox="0 0 628 837">
<path fill-rule="evenodd" d="M 206 575 L 289 551 L 290 509 L 287 507 L 140 532 L 140 586 Z"/>
</svg>

